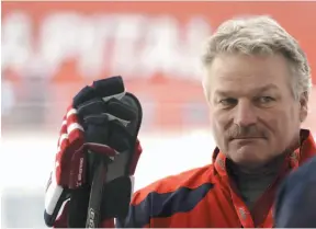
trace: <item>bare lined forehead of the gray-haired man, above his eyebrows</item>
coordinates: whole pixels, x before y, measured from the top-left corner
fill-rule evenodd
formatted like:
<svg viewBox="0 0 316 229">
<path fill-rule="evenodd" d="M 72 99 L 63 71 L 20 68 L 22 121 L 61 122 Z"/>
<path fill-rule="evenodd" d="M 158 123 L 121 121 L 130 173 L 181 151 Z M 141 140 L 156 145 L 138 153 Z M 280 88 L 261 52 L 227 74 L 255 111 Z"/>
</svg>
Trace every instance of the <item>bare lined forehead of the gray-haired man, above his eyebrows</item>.
<svg viewBox="0 0 316 229">
<path fill-rule="evenodd" d="M 238 94 L 255 93 L 258 88 L 269 83 L 279 85 L 279 89 L 287 88 L 291 77 L 286 61 L 282 61 L 283 59 L 280 61 L 280 59 L 279 56 L 272 56 L 272 58 L 245 56 L 215 58 L 214 62 L 208 66 L 208 85 L 213 92 L 229 90 Z"/>
</svg>

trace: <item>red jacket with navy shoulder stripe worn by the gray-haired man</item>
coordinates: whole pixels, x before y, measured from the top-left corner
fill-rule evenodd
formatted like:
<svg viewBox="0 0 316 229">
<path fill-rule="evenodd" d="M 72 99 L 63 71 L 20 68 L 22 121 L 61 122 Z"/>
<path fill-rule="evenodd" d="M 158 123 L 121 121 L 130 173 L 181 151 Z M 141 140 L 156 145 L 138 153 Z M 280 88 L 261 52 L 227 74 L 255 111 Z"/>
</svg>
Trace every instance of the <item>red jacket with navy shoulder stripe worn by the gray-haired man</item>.
<svg viewBox="0 0 316 229">
<path fill-rule="evenodd" d="M 308 130 L 302 145 L 290 154 L 274 183 L 259 198 L 250 214 L 225 169 L 225 156 L 215 149 L 213 163 L 159 180 L 136 192 L 129 214 L 119 227 L 142 228 L 256 228 L 273 227 L 272 207 L 280 181 L 289 171 L 316 154 Z M 103 227 L 109 227 L 103 222 Z M 65 227 L 65 225 L 64 225 Z"/>
</svg>

